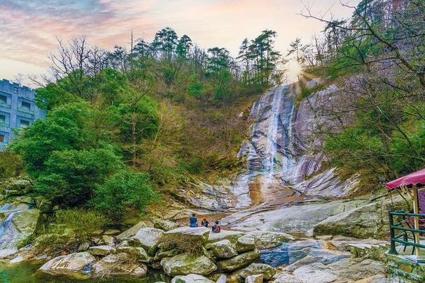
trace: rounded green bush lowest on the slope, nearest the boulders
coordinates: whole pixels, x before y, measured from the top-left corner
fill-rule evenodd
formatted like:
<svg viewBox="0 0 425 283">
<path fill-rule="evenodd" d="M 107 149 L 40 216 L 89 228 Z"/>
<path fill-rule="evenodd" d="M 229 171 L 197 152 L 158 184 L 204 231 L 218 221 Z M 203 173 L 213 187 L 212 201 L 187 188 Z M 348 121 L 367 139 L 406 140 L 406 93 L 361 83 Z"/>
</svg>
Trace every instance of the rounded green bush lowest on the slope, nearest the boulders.
<svg viewBox="0 0 425 283">
<path fill-rule="evenodd" d="M 151 180 L 146 173 L 120 170 L 97 186 L 91 205 L 119 221 L 123 219 L 124 212 L 141 212 L 155 200 L 158 200 L 158 195 L 151 188 Z"/>
</svg>

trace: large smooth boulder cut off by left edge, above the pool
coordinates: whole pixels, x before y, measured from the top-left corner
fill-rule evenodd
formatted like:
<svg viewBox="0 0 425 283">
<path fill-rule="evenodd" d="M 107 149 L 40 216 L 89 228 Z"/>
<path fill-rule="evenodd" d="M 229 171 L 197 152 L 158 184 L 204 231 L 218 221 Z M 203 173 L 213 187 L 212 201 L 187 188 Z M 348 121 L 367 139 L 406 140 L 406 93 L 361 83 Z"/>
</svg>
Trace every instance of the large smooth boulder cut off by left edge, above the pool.
<svg viewBox="0 0 425 283">
<path fill-rule="evenodd" d="M 4 217 L 3 217 L 4 216 Z M 0 259 L 18 252 L 18 248 L 35 231 L 40 210 L 28 210 L 27 205 L 6 204 L 0 208 Z"/>
</svg>

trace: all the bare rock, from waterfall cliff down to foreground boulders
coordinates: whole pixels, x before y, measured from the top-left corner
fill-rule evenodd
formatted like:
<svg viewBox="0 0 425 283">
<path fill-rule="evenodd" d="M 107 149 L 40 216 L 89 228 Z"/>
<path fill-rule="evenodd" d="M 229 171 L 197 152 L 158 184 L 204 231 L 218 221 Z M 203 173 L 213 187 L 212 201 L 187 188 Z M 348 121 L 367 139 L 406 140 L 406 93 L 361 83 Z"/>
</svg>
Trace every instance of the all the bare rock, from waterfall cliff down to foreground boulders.
<svg viewBox="0 0 425 283">
<path fill-rule="evenodd" d="M 333 103 L 337 91 L 331 85 L 310 100 Z M 321 168 L 326 157 L 309 151 L 320 145 L 312 129 L 332 123 L 316 116 L 311 101 L 295 108 L 294 98 L 293 86 L 277 87 L 254 104 L 239 152 L 246 169 L 221 185 L 199 182 L 200 194 L 187 196 L 192 208 L 170 206 L 125 231 L 96 231 L 60 256 L 36 252 L 32 238 L 51 203 L 22 196 L 20 184 L 8 189 L 0 259 L 9 268 L 32 262 L 58 282 L 386 282 L 387 211 L 405 201 L 342 199 L 355 191 L 356 176 L 340 180 L 335 168 Z M 187 227 L 193 212 L 221 219 L 221 233 Z"/>
</svg>

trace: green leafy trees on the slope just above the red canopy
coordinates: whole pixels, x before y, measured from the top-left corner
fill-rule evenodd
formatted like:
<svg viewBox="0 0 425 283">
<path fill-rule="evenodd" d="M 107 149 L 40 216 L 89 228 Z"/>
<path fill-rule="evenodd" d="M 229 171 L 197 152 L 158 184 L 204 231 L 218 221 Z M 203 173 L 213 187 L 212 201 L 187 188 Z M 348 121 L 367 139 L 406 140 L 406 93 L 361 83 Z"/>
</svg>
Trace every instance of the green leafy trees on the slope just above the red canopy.
<svg viewBox="0 0 425 283">
<path fill-rule="evenodd" d="M 409 108 L 406 106 L 404 112 L 409 113 Z M 382 175 L 393 179 L 425 166 L 424 120 L 406 117 L 403 121 L 392 110 L 382 105 L 365 111 L 341 133 L 326 138 L 324 150 L 330 164 L 343 174 L 361 173 L 363 187 L 373 186 Z"/>
</svg>

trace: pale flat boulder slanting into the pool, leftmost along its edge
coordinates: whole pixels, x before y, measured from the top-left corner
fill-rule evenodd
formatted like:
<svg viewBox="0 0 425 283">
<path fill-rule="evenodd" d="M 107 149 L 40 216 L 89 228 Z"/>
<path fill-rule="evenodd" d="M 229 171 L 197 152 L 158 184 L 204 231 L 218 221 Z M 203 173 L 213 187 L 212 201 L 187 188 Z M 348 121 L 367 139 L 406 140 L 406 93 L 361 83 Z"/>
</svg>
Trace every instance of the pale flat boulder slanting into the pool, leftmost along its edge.
<svg viewBox="0 0 425 283">
<path fill-rule="evenodd" d="M 77 252 L 66 256 L 57 256 L 41 266 L 40 270 L 52 275 L 72 275 L 81 272 L 96 261 L 90 252 Z"/>
</svg>

